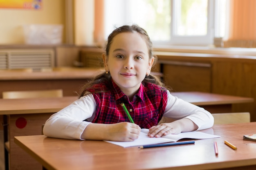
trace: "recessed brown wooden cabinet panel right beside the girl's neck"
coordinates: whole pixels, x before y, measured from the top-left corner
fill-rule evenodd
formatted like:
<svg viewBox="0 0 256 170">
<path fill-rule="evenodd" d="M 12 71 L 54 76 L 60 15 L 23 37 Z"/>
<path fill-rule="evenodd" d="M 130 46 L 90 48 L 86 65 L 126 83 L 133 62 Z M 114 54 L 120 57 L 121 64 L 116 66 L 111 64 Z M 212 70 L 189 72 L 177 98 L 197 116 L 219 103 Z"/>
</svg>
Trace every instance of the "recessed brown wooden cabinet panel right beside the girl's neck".
<svg viewBox="0 0 256 170">
<path fill-rule="evenodd" d="M 196 62 L 160 62 L 163 79 L 173 91 L 211 91 L 211 64 Z"/>
</svg>

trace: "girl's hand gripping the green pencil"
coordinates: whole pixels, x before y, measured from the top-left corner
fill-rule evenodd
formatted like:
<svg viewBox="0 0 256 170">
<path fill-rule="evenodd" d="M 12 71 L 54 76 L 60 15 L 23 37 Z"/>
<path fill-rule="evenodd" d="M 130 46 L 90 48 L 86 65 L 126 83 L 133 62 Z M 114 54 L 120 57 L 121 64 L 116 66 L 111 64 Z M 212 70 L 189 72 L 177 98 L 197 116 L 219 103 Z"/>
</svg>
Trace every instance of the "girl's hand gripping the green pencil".
<svg viewBox="0 0 256 170">
<path fill-rule="evenodd" d="M 130 122 L 108 124 L 108 134 L 111 141 L 134 141 L 138 139 L 141 128 Z"/>
</svg>

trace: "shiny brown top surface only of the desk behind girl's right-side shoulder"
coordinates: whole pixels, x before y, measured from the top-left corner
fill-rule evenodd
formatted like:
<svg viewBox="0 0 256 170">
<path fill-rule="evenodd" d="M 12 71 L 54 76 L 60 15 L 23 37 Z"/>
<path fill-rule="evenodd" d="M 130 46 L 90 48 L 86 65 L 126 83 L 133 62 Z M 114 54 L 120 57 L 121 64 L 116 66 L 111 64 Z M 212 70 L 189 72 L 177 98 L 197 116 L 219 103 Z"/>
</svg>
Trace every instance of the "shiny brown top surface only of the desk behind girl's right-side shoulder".
<svg viewBox="0 0 256 170">
<path fill-rule="evenodd" d="M 254 98 L 252 97 L 221 95 L 197 91 L 171 92 L 171 94 L 197 106 L 254 102 Z"/>
</svg>

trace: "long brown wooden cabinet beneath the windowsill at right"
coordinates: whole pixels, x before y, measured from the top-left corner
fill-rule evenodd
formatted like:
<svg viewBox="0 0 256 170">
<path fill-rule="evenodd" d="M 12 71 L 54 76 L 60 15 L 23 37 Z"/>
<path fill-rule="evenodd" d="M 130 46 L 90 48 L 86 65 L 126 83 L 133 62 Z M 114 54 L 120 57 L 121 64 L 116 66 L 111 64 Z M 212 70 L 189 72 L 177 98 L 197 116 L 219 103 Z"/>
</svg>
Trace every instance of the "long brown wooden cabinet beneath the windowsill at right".
<svg viewBox="0 0 256 170">
<path fill-rule="evenodd" d="M 256 121 L 256 57 L 171 52 L 156 55 L 164 80 L 173 91 L 252 97 L 254 103 L 234 104 L 232 111 L 249 112 L 251 121 Z"/>
</svg>

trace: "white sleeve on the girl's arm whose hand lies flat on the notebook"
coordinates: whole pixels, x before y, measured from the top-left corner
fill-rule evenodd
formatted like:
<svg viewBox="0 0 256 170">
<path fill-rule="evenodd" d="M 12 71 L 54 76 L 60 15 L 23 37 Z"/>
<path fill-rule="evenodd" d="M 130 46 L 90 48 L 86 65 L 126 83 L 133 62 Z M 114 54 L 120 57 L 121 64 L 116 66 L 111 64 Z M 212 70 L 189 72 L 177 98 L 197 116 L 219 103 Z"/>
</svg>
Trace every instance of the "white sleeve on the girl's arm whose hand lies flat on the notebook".
<svg viewBox="0 0 256 170">
<path fill-rule="evenodd" d="M 213 116 L 207 110 L 174 97 L 169 91 L 167 91 L 167 105 L 164 116 L 173 119 L 186 117 L 198 126 L 197 130 L 211 128 L 214 122 Z"/>
</svg>

